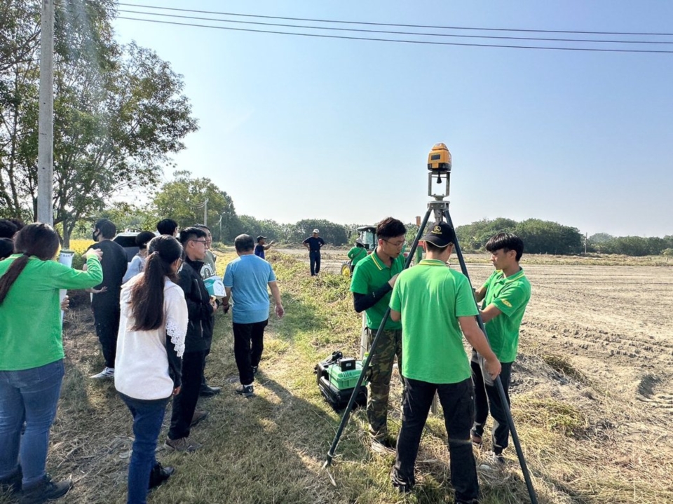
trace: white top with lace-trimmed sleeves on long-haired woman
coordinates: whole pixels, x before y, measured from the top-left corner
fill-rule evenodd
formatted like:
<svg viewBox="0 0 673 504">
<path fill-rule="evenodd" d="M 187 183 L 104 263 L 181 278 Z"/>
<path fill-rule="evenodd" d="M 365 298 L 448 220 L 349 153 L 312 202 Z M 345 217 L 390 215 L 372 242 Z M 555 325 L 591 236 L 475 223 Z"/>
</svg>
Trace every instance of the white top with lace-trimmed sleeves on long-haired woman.
<svg viewBox="0 0 673 504">
<path fill-rule="evenodd" d="M 135 319 L 129 300 L 131 287 L 140 278 L 142 275 L 136 275 L 121 288 L 114 386 L 134 399 L 165 399 L 173 391 L 173 381 L 168 374 L 166 336 L 175 345 L 177 355 L 182 357 L 188 322 L 187 304 L 182 288 L 167 278 L 163 287 L 164 323 L 151 331 L 133 331 Z"/>
</svg>

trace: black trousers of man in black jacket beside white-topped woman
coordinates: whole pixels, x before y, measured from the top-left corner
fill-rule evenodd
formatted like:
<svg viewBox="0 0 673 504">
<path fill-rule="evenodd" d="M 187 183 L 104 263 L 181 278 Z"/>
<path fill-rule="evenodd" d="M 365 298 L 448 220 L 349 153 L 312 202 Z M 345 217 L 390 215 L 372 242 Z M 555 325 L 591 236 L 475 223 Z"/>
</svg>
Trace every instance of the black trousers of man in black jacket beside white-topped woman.
<svg viewBox="0 0 673 504">
<path fill-rule="evenodd" d="M 205 351 L 185 352 L 182 355 L 182 387 L 180 393 L 173 397 L 173 411 L 168 430 L 168 437 L 172 440 L 189 436 L 189 424 L 198 401 L 204 361 Z"/>
</svg>

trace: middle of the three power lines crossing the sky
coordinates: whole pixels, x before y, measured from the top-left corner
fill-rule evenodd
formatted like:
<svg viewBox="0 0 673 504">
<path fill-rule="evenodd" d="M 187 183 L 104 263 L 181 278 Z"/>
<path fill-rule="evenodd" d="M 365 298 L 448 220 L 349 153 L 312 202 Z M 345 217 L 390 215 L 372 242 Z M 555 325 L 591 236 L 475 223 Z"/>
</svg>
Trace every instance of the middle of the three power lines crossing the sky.
<svg viewBox="0 0 673 504">
<path fill-rule="evenodd" d="M 382 34 L 395 34 L 395 35 L 418 35 L 418 36 L 446 36 L 446 37 L 456 37 L 461 39 L 498 39 L 498 40 L 524 40 L 524 41 L 548 41 L 548 42 L 590 42 L 590 43 L 640 43 L 640 44 L 673 44 L 673 41 L 640 41 L 640 40 L 597 40 L 597 39 L 552 39 L 552 38 L 542 38 L 542 37 L 527 37 L 527 36 L 494 36 L 494 35 L 465 35 L 465 34 L 443 34 L 443 33 L 419 33 L 419 32 L 399 32 L 394 30 L 378 30 L 378 29 L 358 29 L 358 28 L 337 28 L 337 27 L 321 27 L 321 26 L 306 26 L 306 25 L 287 25 L 281 23 L 271 23 L 271 22 L 256 22 L 256 21 L 240 21 L 240 20 L 226 20 L 226 19 L 217 19 L 217 18 L 200 18 L 196 16 L 188 15 L 176 15 L 176 14 L 163 14 L 163 13 L 152 13 L 144 11 L 128 11 L 125 9 L 118 9 L 118 12 L 127 13 L 127 14 L 143 14 L 143 15 L 153 15 L 161 16 L 163 18 L 180 18 L 188 20 L 201 20 L 201 21 L 216 21 L 216 22 L 230 22 L 237 23 L 242 25 L 262 25 L 262 26 L 272 26 L 272 27 L 283 27 L 283 28 L 304 28 L 304 29 L 322 29 L 322 30 L 332 30 L 338 32 L 364 32 L 364 33 L 382 33 Z"/>
</svg>

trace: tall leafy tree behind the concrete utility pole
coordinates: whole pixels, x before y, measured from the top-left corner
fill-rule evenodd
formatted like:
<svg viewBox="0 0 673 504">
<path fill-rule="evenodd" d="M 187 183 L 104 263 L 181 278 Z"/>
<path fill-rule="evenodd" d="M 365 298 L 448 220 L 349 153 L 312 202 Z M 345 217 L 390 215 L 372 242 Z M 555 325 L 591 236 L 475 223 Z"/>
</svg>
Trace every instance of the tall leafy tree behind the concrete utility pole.
<svg viewBox="0 0 673 504">
<path fill-rule="evenodd" d="M 156 186 L 161 164 L 196 130 L 182 76 L 153 51 L 114 42 L 113 6 L 112 0 L 57 4 L 54 222 L 63 225 L 65 246 L 76 221 L 101 212 L 113 194 Z M 0 198 L 9 213 L 35 218 L 36 48 L 31 56 L 0 76 L 7 139 L 0 144 Z"/>
</svg>

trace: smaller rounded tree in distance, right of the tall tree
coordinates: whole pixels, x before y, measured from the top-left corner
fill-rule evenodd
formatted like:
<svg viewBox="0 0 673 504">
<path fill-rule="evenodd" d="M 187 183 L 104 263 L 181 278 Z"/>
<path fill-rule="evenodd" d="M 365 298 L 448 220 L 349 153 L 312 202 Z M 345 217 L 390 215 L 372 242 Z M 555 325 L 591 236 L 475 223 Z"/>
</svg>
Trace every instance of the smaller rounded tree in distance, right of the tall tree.
<svg viewBox="0 0 673 504">
<path fill-rule="evenodd" d="M 152 202 L 159 219 L 174 219 L 180 227 L 203 223 L 204 202 L 208 199 L 208 227 L 213 240 L 233 240 L 240 231 L 240 222 L 233 200 L 208 178 L 191 178 L 180 170 L 175 179 L 163 184 Z"/>
</svg>

